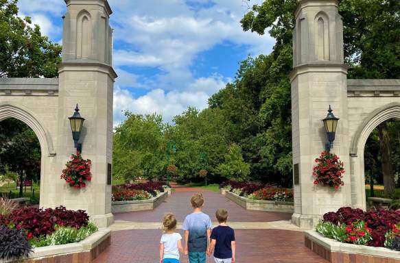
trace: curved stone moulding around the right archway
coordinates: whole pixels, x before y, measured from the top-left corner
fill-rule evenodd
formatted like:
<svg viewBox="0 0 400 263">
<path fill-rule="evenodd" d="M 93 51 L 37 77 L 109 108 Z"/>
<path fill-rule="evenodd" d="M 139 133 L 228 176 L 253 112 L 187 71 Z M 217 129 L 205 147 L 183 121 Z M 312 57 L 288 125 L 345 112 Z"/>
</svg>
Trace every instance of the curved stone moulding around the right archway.
<svg viewBox="0 0 400 263">
<path fill-rule="evenodd" d="M 380 123 L 388 121 L 390 118 L 400 120 L 399 102 L 384 105 L 371 112 L 368 117 L 364 119 L 351 140 L 350 155 L 357 156 L 359 150 L 364 151 L 366 140 L 373 129 L 375 129 Z"/>
</svg>

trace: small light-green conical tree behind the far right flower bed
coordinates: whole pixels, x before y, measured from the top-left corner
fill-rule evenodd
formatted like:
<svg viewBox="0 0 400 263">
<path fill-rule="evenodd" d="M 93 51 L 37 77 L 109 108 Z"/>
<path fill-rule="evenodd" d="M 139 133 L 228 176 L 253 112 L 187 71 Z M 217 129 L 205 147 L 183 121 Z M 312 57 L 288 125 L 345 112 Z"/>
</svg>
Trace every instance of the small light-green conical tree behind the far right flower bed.
<svg viewBox="0 0 400 263">
<path fill-rule="evenodd" d="M 250 174 L 250 165 L 244 162 L 239 145 L 233 143 L 225 154 L 224 163 L 219 164 L 215 171 L 228 180 L 246 181 Z"/>
</svg>

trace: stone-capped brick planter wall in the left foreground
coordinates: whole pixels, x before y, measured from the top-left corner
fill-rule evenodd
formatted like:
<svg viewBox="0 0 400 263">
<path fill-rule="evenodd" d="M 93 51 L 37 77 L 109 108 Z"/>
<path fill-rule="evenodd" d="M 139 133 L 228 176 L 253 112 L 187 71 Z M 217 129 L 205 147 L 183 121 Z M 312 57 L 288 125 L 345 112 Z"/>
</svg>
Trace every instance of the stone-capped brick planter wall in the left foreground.
<svg viewBox="0 0 400 263">
<path fill-rule="evenodd" d="M 38 247 L 23 260 L 0 260 L 0 263 L 47 263 L 64 262 L 80 263 L 93 262 L 111 244 L 110 229 L 99 229 L 95 234 L 78 243 L 57 245 L 49 247 Z"/>
</svg>

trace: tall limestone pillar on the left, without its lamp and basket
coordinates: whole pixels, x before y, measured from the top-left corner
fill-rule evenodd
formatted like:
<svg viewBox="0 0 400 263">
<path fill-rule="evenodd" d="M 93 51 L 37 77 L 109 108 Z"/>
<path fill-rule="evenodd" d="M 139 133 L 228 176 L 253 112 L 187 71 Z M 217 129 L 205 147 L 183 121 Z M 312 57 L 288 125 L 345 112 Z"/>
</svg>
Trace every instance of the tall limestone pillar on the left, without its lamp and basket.
<svg viewBox="0 0 400 263">
<path fill-rule="evenodd" d="M 113 84 L 111 66 L 112 13 L 106 0 L 65 0 L 62 63 L 59 67 L 57 170 L 75 153 L 68 117 L 76 103 L 86 118 L 82 129 L 82 157 L 92 160 L 93 179 L 76 190 L 55 178 L 54 192 L 40 205 L 64 205 L 86 210 L 99 227 L 113 223 L 108 168 L 113 160 Z M 50 198 L 51 197 L 51 198 Z M 50 199 L 49 199 L 50 198 Z"/>
</svg>

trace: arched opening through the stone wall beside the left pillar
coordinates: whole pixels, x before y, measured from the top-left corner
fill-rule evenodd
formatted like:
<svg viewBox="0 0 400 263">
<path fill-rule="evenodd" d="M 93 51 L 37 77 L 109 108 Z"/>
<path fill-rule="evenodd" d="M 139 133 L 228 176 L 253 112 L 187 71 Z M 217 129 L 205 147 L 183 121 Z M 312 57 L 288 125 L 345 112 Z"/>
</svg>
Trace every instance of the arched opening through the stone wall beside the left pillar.
<svg viewBox="0 0 400 263">
<path fill-rule="evenodd" d="M 0 121 L 0 195 L 40 198 L 42 149 L 34 130 L 17 118 Z"/>
</svg>

